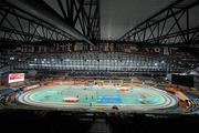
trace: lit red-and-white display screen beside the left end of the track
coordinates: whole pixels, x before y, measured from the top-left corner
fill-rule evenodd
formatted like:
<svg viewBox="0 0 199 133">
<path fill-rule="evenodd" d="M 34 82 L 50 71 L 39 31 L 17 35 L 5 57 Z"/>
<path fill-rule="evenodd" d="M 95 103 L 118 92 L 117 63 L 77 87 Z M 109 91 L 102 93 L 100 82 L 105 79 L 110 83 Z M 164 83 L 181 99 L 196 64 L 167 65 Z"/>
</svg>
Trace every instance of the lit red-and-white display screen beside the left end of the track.
<svg viewBox="0 0 199 133">
<path fill-rule="evenodd" d="M 24 73 L 10 73 L 9 74 L 9 83 L 15 83 L 24 81 Z"/>
</svg>

